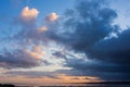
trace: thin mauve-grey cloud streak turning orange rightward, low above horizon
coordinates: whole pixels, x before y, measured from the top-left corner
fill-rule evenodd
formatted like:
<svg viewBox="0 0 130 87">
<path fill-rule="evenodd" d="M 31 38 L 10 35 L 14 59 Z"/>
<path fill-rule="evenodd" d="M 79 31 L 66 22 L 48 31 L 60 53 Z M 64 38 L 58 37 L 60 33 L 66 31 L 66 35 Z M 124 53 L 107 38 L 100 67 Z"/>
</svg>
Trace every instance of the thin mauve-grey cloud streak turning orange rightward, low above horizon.
<svg viewBox="0 0 130 87">
<path fill-rule="evenodd" d="M 70 80 L 82 80 L 82 82 L 96 82 L 100 80 L 99 77 L 94 76 L 70 76 L 58 72 L 40 72 L 40 71 L 9 71 L 4 74 L 9 76 L 26 76 L 26 78 L 53 78 L 53 79 L 70 79 Z M 64 83 L 64 80 L 62 80 Z"/>
</svg>

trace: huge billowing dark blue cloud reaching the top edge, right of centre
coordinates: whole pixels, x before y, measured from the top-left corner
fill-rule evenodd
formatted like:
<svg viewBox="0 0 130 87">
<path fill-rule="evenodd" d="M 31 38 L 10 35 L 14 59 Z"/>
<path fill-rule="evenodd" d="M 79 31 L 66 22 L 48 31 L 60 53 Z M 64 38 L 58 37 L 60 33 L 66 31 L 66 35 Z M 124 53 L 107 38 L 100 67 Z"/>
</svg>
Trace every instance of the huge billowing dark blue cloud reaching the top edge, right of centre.
<svg viewBox="0 0 130 87">
<path fill-rule="evenodd" d="M 112 26 L 113 18 L 117 16 L 116 12 L 102 8 L 102 4 L 103 2 L 96 0 L 79 2 L 76 10 L 69 10 L 68 15 L 65 16 L 63 24 L 65 32 L 51 34 L 52 38 L 68 45 L 76 51 L 89 50 L 116 28 Z"/>
</svg>

